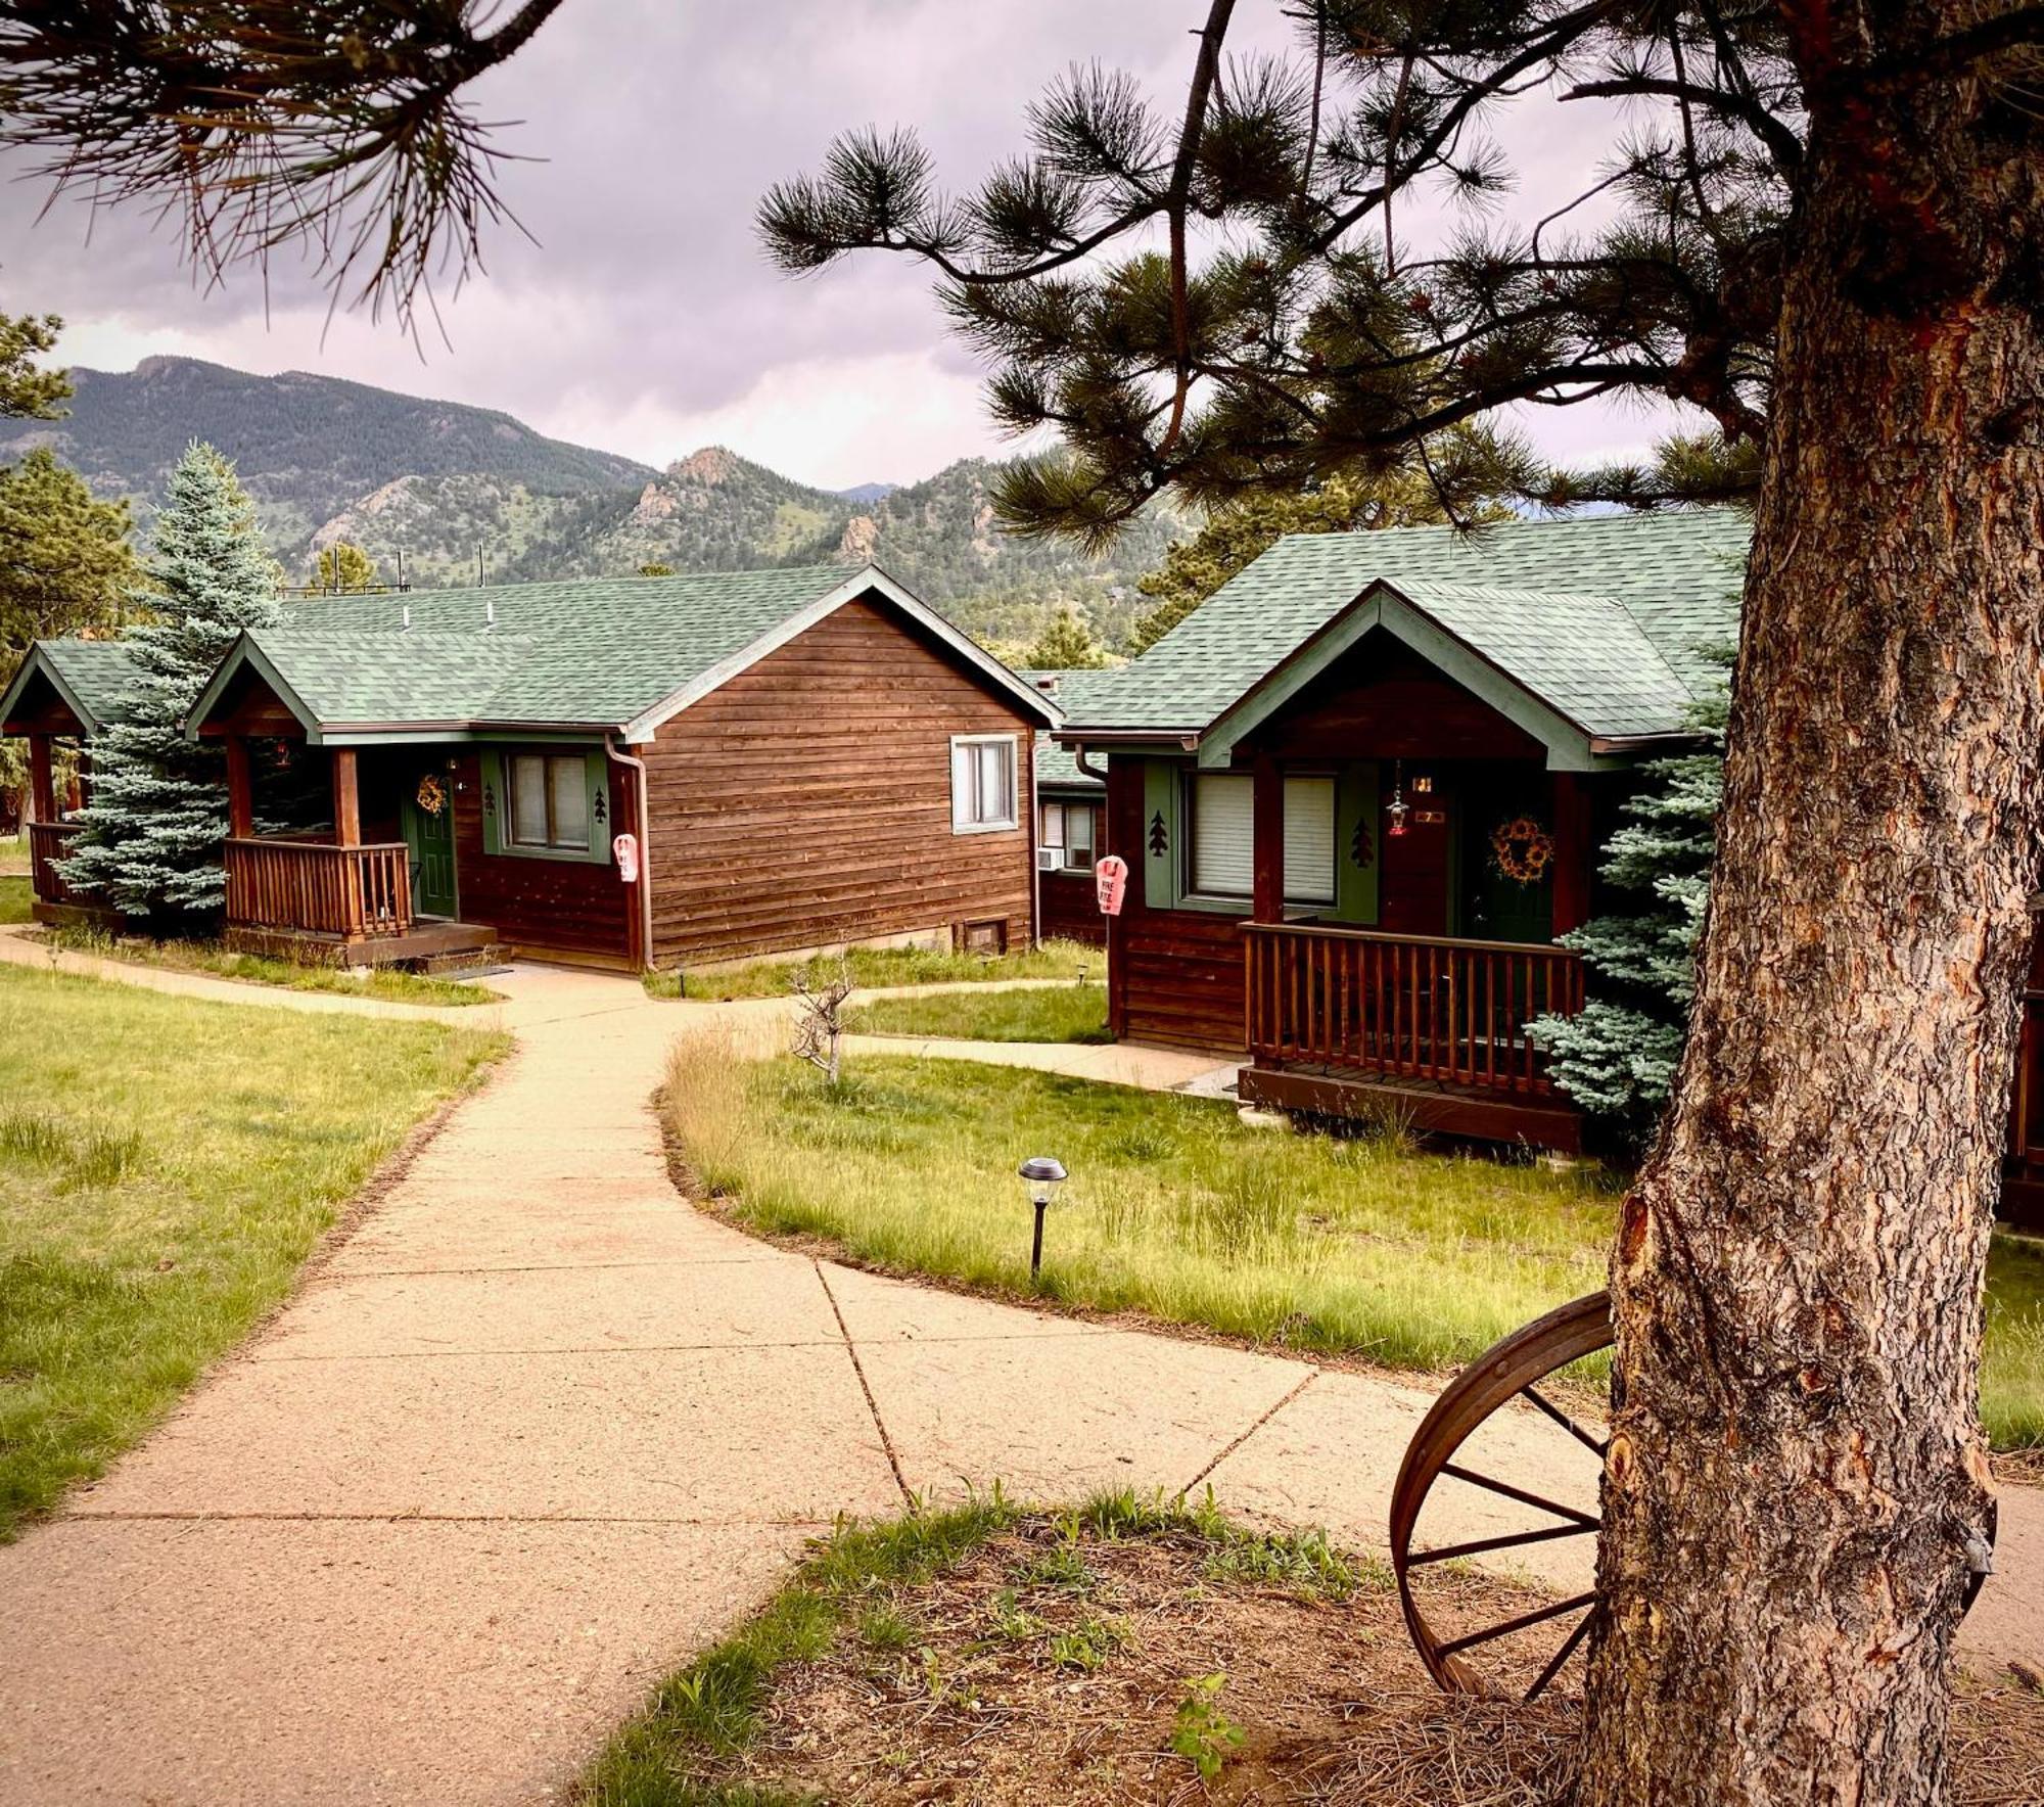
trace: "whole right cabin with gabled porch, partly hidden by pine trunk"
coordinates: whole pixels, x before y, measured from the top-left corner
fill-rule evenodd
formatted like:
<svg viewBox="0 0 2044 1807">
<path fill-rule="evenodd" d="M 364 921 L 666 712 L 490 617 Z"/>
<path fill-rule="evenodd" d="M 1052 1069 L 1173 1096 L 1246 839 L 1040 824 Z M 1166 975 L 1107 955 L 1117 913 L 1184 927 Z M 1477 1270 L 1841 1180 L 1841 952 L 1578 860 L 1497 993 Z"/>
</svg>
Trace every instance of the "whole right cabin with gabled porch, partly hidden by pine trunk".
<svg viewBox="0 0 2044 1807">
<path fill-rule="evenodd" d="M 1584 1002 L 1639 760 L 1737 626 L 1729 511 L 1282 540 L 1055 738 L 1106 762 L 1116 1036 L 1243 1055 L 1275 1110 L 1576 1149 L 1525 1034 Z"/>
</svg>

